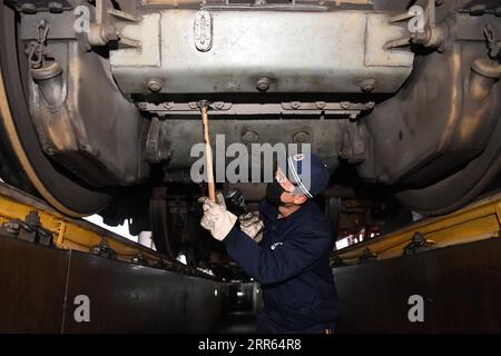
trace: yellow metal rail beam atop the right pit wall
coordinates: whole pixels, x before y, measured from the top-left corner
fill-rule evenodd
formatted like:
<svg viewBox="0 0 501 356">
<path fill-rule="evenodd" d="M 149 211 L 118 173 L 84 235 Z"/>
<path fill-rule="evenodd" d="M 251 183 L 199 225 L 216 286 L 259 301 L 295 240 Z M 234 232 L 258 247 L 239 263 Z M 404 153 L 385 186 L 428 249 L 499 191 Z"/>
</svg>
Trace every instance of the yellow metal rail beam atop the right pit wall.
<svg viewBox="0 0 501 356">
<path fill-rule="evenodd" d="M 449 216 L 428 218 L 386 236 L 376 237 L 334 253 L 345 264 L 356 264 L 366 248 L 379 259 L 400 257 L 413 236 L 420 233 L 435 243 L 434 248 L 482 239 L 499 239 L 501 192 L 477 201 Z"/>
</svg>

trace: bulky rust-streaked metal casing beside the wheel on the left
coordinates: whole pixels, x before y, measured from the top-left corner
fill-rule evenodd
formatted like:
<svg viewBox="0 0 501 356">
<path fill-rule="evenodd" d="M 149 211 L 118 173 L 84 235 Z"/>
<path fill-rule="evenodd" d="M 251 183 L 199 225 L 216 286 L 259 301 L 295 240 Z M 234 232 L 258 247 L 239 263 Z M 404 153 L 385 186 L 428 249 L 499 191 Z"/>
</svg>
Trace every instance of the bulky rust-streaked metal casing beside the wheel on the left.
<svg viewBox="0 0 501 356">
<path fill-rule="evenodd" d="M 49 27 L 58 21 L 43 13 L 28 17 L 45 19 Z M 32 38 L 24 32 L 28 43 Z M 98 55 L 84 52 L 75 39 L 49 42 L 47 50 L 63 72 L 60 78 L 29 80 L 30 111 L 45 152 L 91 186 L 130 185 L 147 176 L 140 139 L 148 121 L 122 97 L 107 65 Z M 51 102 L 46 92 L 60 95 Z"/>
</svg>

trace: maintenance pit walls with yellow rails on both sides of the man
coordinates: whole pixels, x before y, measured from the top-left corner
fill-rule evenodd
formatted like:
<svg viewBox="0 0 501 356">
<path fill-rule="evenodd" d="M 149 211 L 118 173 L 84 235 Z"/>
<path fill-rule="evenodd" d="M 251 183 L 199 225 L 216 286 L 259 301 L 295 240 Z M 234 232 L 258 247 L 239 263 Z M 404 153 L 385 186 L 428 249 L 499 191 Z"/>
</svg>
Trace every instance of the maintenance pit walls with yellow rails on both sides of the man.
<svg viewBox="0 0 501 356">
<path fill-rule="evenodd" d="M 223 280 L 171 263 L 3 184 L 0 221 L 3 333 L 256 330 L 261 290 L 248 277 Z M 334 251 L 336 332 L 499 332 L 500 227 L 497 194 Z M 420 303 L 422 315 L 413 312 Z"/>
</svg>

